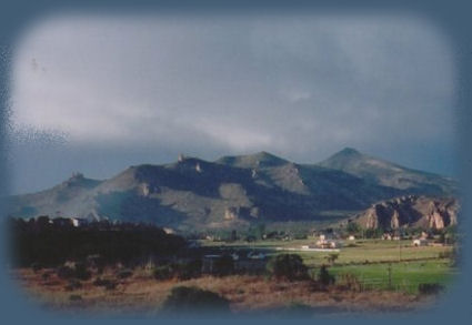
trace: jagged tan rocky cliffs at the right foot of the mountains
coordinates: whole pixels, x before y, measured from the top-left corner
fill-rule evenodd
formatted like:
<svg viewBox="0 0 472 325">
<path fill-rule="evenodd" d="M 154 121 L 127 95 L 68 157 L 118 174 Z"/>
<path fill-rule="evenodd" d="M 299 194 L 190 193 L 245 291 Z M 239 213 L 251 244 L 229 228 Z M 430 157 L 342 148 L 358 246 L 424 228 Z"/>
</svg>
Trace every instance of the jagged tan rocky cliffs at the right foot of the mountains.
<svg viewBox="0 0 472 325">
<path fill-rule="evenodd" d="M 419 226 L 443 228 L 458 222 L 459 203 L 450 197 L 406 195 L 373 204 L 356 215 L 366 228 Z"/>
</svg>

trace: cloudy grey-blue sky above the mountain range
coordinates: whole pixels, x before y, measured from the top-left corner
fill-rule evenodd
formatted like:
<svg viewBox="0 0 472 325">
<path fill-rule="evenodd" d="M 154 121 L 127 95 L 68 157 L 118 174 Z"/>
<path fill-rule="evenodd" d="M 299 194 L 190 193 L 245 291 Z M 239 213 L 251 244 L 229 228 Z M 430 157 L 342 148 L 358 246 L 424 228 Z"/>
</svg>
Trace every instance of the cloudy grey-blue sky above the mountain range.
<svg viewBox="0 0 472 325">
<path fill-rule="evenodd" d="M 315 163 L 351 146 L 454 174 L 453 53 L 415 17 L 52 17 L 12 71 L 13 193 L 179 153 Z"/>
</svg>

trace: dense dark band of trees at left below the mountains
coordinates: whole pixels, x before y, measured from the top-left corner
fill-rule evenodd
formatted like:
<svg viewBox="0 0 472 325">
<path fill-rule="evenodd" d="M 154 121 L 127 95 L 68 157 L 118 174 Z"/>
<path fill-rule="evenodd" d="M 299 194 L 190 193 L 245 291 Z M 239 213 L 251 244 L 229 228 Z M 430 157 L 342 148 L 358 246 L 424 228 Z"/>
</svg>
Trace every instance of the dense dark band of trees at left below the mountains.
<svg viewBox="0 0 472 325">
<path fill-rule="evenodd" d="M 8 219 L 13 266 L 56 266 L 97 256 L 103 265 L 143 263 L 149 256 L 174 256 L 185 240 L 145 224 L 108 221 L 77 225 L 70 219 Z"/>
</svg>

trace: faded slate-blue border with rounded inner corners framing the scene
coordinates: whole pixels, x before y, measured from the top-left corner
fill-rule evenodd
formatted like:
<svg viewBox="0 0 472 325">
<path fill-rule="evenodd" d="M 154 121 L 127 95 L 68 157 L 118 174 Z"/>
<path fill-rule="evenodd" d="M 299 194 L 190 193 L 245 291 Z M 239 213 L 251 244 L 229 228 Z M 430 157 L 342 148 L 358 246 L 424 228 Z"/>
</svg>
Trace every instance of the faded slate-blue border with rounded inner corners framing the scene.
<svg viewBox="0 0 472 325">
<path fill-rule="evenodd" d="M 43 19 L 48 14 L 58 14 L 62 12 L 70 13 L 96 13 L 96 14 L 113 14 L 113 13 L 190 13 L 190 14 L 234 14 L 234 13 L 301 13 L 304 12 L 334 12 L 334 13 L 404 13 L 420 16 L 435 23 L 450 39 L 453 47 L 455 67 L 458 71 L 455 80 L 455 128 L 456 146 L 458 146 L 458 170 L 459 180 L 461 182 L 461 217 L 460 230 L 464 234 L 462 243 L 461 256 L 461 275 L 458 276 L 451 293 L 443 297 L 442 302 L 431 309 L 409 315 L 380 315 L 380 316 L 359 316 L 355 319 L 342 318 L 323 318 L 312 321 L 298 322 L 328 322 L 340 323 L 345 322 L 374 324 L 393 323 L 429 323 L 429 324 L 448 324 L 454 322 L 459 324 L 469 323 L 472 319 L 472 280 L 470 261 L 471 241 L 468 236 L 472 231 L 472 220 L 468 217 L 472 210 L 472 151 L 470 150 L 470 141 L 472 133 L 472 2 L 470 1 L 125 1 L 125 0 L 108 0 L 108 1 L 73 1 L 73 0 L 3 0 L 0 6 L 0 197 L 9 193 L 9 167 L 14 162 L 8 160 L 8 141 L 7 134 L 9 130 L 9 78 L 10 62 L 13 53 L 16 40 L 21 37 L 23 30 L 28 29 L 37 20 Z M 469 14 L 468 14 L 469 13 Z M 0 211 L 3 201 L 0 200 Z M 7 272 L 7 262 L 4 257 L 8 253 L 8 234 L 0 230 L 0 236 L 3 241 L 0 248 L 0 311 L 1 318 L 7 322 L 14 323 L 51 323 L 58 321 L 78 322 L 86 321 L 78 318 L 60 319 L 60 314 L 48 313 L 38 308 L 33 303 L 28 302 L 19 292 L 19 288 L 12 283 Z M 80 315 L 78 315 L 80 316 Z M 139 315 L 131 316 L 127 319 L 139 318 Z M 144 319 L 143 319 L 144 321 Z M 157 319 L 145 319 L 147 322 L 159 322 Z M 180 322 L 184 322 L 181 319 Z M 191 319 L 187 319 L 191 321 Z M 242 319 L 225 319 L 225 323 L 241 322 Z M 248 322 L 244 319 L 243 322 Z M 87 322 L 93 323 L 111 323 L 116 322 L 108 317 L 87 317 Z M 171 322 L 165 319 L 164 322 Z M 172 321 L 178 322 L 178 321 Z M 203 321 L 192 319 L 192 322 L 220 323 L 221 321 Z M 261 319 L 259 319 L 261 322 Z M 259 323 L 258 322 L 258 323 Z M 282 322 L 277 319 L 263 319 L 263 322 Z M 287 322 L 283 321 L 283 322 Z M 294 321 L 289 321 L 294 322 Z M 6 324 L 7 324 L 6 323 Z"/>
</svg>

